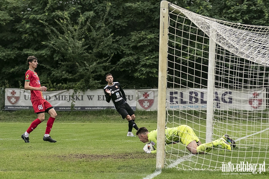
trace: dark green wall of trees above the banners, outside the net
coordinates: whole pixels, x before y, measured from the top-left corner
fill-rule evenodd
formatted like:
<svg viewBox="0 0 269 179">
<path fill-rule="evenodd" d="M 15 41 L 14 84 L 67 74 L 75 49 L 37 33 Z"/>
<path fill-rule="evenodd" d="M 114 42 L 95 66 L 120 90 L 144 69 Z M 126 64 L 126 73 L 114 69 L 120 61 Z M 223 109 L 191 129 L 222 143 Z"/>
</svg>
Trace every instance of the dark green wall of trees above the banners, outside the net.
<svg viewBox="0 0 269 179">
<path fill-rule="evenodd" d="M 158 87 L 160 2 L 0 0 L 0 87 L 23 88 L 27 57 L 48 90 Z M 171 1 L 195 13 L 269 26 L 269 1 Z"/>
</svg>

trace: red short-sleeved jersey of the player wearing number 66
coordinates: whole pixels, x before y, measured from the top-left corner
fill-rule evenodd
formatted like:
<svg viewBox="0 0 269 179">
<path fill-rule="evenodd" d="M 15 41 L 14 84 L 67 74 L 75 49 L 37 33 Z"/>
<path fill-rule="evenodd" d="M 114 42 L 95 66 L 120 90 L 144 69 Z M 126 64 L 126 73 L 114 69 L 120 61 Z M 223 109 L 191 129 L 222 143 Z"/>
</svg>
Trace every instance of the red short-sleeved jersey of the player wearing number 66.
<svg viewBox="0 0 269 179">
<path fill-rule="evenodd" d="M 30 81 L 31 87 L 37 87 L 40 88 L 40 80 L 36 72 L 28 69 L 25 73 L 25 81 Z M 36 99 L 44 99 L 42 91 L 38 90 L 31 90 L 31 101 L 34 101 Z"/>
</svg>

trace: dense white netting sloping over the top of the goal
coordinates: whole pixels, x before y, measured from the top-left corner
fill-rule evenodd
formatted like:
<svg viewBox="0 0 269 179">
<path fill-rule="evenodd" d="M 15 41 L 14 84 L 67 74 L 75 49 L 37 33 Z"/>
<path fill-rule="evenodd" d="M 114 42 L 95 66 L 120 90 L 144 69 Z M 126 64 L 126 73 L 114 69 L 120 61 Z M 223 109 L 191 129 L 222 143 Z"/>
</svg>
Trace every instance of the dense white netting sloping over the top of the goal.
<svg viewBox="0 0 269 179">
<path fill-rule="evenodd" d="M 173 5 L 171 4 L 171 7 Z M 174 6 L 176 7 L 176 6 Z M 215 42 L 238 57 L 268 66 L 268 28 L 233 24 L 197 15 L 188 10 L 178 9 L 201 29 L 208 37 L 215 36 Z M 223 23 L 223 24 L 222 24 Z"/>
</svg>

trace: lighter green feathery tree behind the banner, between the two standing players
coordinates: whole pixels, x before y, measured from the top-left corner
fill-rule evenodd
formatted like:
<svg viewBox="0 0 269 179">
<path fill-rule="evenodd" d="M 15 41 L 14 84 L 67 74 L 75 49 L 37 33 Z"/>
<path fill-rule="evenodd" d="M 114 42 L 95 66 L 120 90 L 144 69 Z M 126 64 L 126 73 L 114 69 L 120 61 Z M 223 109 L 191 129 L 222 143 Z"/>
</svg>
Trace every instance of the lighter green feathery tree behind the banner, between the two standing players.
<svg viewBox="0 0 269 179">
<path fill-rule="evenodd" d="M 92 13 L 80 15 L 77 24 L 71 22 L 66 12 L 59 12 L 59 16 L 62 17 L 56 20 L 59 30 L 41 21 L 46 26 L 49 38 L 43 44 L 55 50 L 54 60 L 57 61 L 55 66 L 44 65 L 50 69 L 46 73 L 47 86 L 77 90 L 100 88 L 100 80 L 95 76 L 105 74 L 104 69 L 113 56 L 109 50 L 113 34 L 106 30 L 104 18 L 93 27 Z"/>
</svg>

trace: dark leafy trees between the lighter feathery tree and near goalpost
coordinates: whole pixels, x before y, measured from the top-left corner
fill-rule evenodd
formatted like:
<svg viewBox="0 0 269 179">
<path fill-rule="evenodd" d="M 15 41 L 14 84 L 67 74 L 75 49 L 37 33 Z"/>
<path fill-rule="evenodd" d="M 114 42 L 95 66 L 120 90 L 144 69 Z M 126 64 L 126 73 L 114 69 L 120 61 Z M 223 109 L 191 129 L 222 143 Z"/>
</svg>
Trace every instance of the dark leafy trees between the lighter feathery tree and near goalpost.
<svg viewBox="0 0 269 179">
<path fill-rule="evenodd" d="M 118 52 L 111 72 L 129 88 L 158 86 L 159 11 L 161 1 L 114 1 L 109 17 Z M 114 77 L 114 78 L 115 78 Z"/>
</svg>

